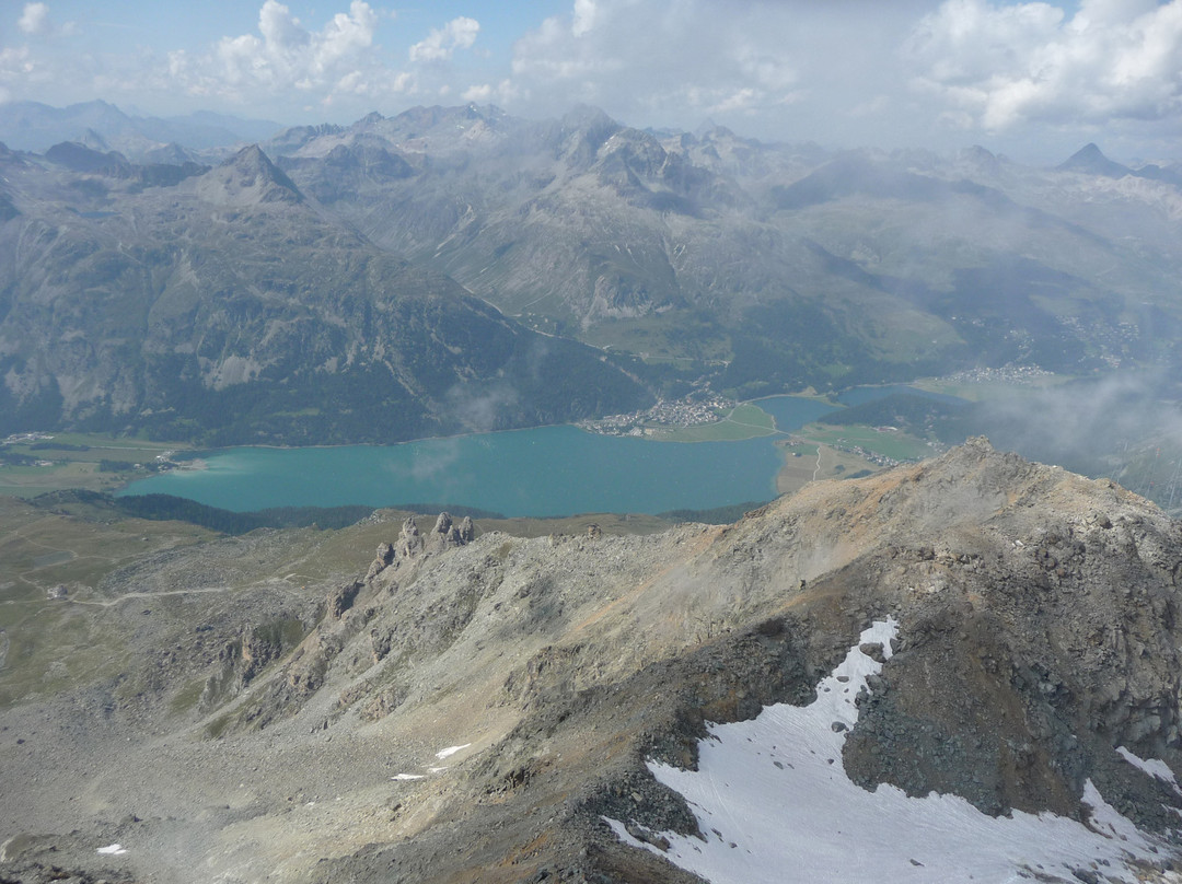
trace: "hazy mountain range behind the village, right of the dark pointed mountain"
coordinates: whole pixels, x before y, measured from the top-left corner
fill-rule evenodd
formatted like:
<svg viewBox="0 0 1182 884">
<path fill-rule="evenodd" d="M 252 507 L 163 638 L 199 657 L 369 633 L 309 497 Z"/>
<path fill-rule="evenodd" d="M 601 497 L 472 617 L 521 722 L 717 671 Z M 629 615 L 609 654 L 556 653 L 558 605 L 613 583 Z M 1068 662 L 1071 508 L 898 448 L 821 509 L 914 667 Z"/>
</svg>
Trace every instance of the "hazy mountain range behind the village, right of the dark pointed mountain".
<svg viewBox="0 0 1182 884">
<path fill-rule="evenodd" d="M 417 109 L 267 149 L 375 242 L 506 312 L 723 362 L 745 392 L 1173 352 L 1168 176 L 663 134 L 593 109 Z"/>
</svg>

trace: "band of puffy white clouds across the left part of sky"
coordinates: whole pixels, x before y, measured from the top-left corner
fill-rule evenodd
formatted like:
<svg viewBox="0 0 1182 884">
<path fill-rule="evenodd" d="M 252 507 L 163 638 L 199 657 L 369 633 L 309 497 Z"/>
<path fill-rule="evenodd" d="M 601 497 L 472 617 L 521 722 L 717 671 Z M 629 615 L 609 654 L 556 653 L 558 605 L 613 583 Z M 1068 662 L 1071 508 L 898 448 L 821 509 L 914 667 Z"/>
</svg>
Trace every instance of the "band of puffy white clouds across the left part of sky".
<svg viewBox="0 0 1182 884">
<path fill-rule="evenodd" d="M 0 89 L 9 97 L 63 104 L 102 97 L 130 99 L 154 112 L 186 105 L 234 112 L 248 109 L 292 122 L 348 122 L 372 110 L 397 110 L 407 96 L 443 100 L 449 93 L 459 95 L 465 87 L 456 82 L 460 76 L 469 83 L 474 76 L 486 77 L 491 84 L 499 84 L 496 74 L 504 76 L 495 69 L 474 74 L 470 66 L 460 71 L 444 64 L 475 44 L 480 24 L 470 18 L 433 30 L 410 50 L 413 60 L 400 67 L 379 44 L 382 28 L 396 18 L 392 12 L 378 11 L 366 0 L 337 0 L 348 4 L 346 9 L 330 7 L 313 25 L 301 21 L 281 0 L 256 2 L 254 30 L 204 46 L 174 44 L 134 54 L 95 51 L 93 41 L 78 51 L 79 43 L 58 39 L 28 40 L 19 51 L 0 46 Z M 30 4 L 21 21 L 26 30 L 54 38 L 77 33 L 71 25 L 48 24 L 45 4 Z M 407 38 L 404 46 L 413 41 Z M 398 54 L 403 52 L 407 48 Z M 79 89 L 80 84 L 85 87 Z M 494 97 L 517 95 L 505 84 L 491 90 Z M 80 91 L 85 95 L 79 96 Z"/>
</svg>

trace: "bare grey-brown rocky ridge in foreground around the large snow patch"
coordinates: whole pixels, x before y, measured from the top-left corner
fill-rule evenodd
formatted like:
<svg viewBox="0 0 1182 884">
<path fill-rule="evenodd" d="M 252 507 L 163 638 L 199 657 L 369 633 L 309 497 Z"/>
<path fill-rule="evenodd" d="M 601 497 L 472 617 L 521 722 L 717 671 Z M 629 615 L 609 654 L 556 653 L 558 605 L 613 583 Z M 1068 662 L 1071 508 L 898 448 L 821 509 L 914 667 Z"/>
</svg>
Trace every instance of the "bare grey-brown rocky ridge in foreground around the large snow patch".
<svg viewBox="0 0 1182 884">
<path fill-rule="evenodd" d="M 1115 485 L 975 441 L 727 527 L 323 534 L 97 587 L 122 670 L 0 710 L 0 882 L 694 880 L 602 814 L 694 831 L 645 760 L 693 766 L 706 721 L 807 702 L 886 615 L 858 782 L 1084 819 L 1090 778 L 1177 824 L 1116 748 L 1182 772 L 1182 528 Z"/>
</svg>

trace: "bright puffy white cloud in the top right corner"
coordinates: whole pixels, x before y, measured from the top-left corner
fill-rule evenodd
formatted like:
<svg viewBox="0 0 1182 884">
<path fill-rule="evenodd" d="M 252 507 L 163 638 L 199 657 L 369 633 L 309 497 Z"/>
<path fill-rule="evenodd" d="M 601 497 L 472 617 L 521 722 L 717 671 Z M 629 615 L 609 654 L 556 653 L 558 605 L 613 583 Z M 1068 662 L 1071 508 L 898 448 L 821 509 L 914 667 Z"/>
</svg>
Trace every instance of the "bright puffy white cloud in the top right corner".
<svg viewBox="0 0 1182 884">
<path fill-rule="evenodd" d="M 1071 17 L 1045 2 L 948 0 L 905 52 L 948 118 L 992 131 L 1182 112 L 1182 0 L 1082 0 Z"/>
</svg>

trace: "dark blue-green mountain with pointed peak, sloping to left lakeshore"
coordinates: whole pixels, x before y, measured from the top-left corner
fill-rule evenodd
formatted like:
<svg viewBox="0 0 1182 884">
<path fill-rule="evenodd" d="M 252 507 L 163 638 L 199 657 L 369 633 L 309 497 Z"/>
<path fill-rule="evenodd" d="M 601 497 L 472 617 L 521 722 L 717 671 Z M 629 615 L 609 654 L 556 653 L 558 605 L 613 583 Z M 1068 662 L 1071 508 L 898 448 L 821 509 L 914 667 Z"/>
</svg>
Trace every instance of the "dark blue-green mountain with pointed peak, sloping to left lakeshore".
<svg viewBox="0 0 1182 884">
<path fill-rule="evenodd" d="M 647 401 L 327 216 L 256 147 L 213 169 L 77 144 L 0 165 L 8 429 L 391 442 Z"/>
</svg>

